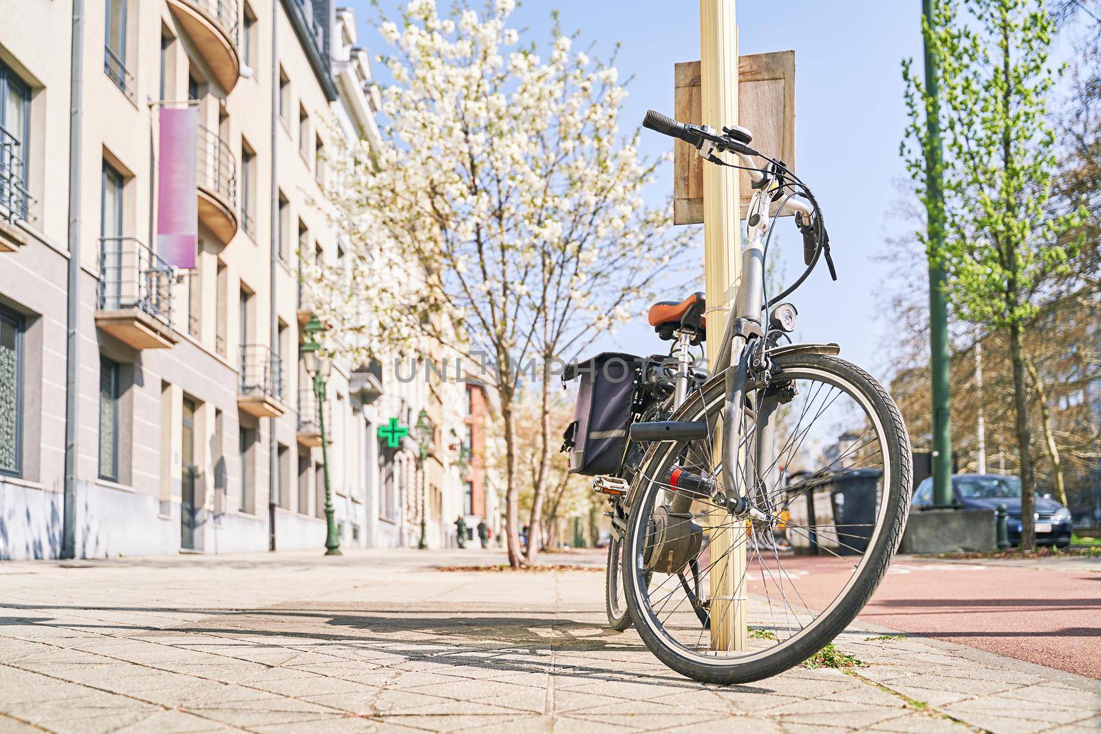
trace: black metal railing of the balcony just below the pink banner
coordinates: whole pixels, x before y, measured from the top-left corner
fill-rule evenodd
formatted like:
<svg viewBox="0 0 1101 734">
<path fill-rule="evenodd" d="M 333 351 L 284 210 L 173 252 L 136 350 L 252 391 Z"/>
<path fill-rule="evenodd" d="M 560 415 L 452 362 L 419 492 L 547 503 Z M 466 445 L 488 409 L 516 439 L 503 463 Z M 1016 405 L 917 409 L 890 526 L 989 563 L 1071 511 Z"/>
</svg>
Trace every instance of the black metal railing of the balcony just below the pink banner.
<svg viewBox="0 0 1101 734">
<path fill-rule="evenodd" d="M 100 238 L 100 310 L 137 308 L 171 328 L 173 278 L 172 265 L 137 238 Z"/>
</svg>

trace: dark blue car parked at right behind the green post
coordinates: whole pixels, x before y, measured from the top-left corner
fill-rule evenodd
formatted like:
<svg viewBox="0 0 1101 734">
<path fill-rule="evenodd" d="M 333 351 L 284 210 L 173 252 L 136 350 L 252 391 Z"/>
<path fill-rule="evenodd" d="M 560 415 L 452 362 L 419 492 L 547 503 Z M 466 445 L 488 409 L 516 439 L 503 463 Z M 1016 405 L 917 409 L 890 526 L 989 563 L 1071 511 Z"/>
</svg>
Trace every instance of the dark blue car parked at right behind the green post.
<svg viewBox="0 0 1101 734">
<path fill-rule="evenodd" d="M 952 474 L 952 503 L 971 510 L 998 510 L 1005 505 L 1009 516 L 1010 543 L 1021 543 L 1021 480 L 1004 474 Z M 923 510 L 933 505 L 933 478 L 929 476 L 917 485 L 913 510 Z M 1058 546 L 1070 545 L 1070 532 L 1073 523 L 1070 511 L 1051 499 L 1050 494 L 1036 493 L 1036 545 Z"/>
</svg>

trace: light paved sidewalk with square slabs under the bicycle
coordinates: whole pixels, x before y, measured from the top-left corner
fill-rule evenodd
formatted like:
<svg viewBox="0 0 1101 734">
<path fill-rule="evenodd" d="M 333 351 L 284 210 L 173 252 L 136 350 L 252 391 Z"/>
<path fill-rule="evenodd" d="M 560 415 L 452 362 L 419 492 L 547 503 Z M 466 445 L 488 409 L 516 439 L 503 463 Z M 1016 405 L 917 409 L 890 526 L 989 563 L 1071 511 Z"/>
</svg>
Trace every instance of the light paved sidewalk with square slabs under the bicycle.
<svg viewBox="0 0 1101 734">
<path fill-rule="evenodd" d="M 700 686 L 603 628 L 601 573 L 433 568 L 490 558 L 2 563 L 0 732 L 1101 728 L 1097 680 L 857 628 L 851 675 Z"/>
</svg>

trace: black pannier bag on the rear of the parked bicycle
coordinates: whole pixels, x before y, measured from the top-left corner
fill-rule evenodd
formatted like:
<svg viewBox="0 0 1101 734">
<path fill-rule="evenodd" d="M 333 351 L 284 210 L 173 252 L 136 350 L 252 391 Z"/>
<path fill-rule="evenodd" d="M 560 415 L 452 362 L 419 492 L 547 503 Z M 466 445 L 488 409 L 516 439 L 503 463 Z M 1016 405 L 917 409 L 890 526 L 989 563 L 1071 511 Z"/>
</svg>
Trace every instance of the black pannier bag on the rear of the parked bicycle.
<svg viewBox="0 0 1101 734">
<path fill-rule="evenodd" d="M 563 451 L 569 451 L 571 474 L 614 474 L 623 460 L 631 406 L 642 358 L 602 352 L 566 366 L 562 381 L 580 377 L 574 423 L 566 429 Z"/>
</svg>

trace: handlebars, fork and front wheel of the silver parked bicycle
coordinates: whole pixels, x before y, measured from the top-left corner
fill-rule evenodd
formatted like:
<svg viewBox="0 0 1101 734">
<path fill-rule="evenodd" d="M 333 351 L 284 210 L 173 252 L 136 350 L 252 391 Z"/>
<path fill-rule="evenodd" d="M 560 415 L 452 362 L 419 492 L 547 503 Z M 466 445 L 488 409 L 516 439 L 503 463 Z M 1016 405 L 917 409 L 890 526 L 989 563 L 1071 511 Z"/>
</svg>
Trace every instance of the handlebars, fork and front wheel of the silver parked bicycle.
<svg viewBox="0 0 1101 734">
<path fill-rule="evenodd" d="M 626 609 L 668 667 L 704 682 L 744 683 L 813 656 L 871 596 L 906 521 L 909 439 L 887 392 L 840 359 L 837 344 L 788 336 L 797 311 L 784 299 L 821 259 L 837 280 L 810 189 L 751 147 L 744 128 L 719 133 L 654 111 L 643 125 L 686 141 L 708 163 L 746 171 L 753 195 L 711 376 L 668 419 L 625 429 L 631 445 L 645 447 L 620 500 Z M 806 270 L 770 298 L 764 265 L 787 208 Z M 577 426 L 582 440 L 587 428 Z"/>
</svg>

